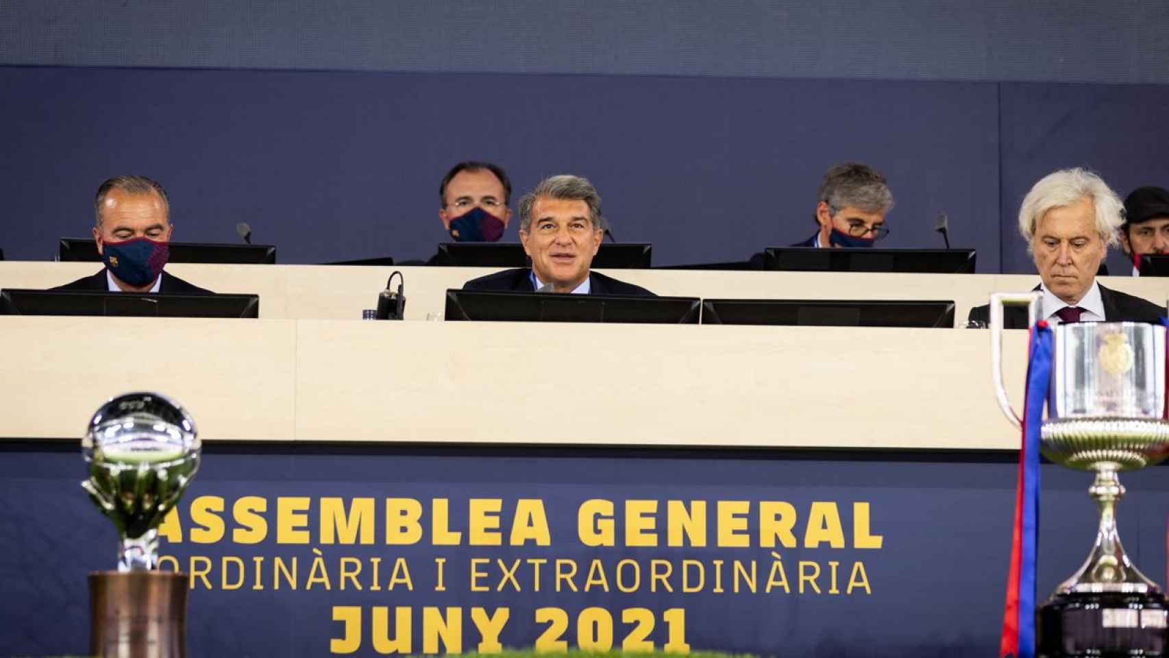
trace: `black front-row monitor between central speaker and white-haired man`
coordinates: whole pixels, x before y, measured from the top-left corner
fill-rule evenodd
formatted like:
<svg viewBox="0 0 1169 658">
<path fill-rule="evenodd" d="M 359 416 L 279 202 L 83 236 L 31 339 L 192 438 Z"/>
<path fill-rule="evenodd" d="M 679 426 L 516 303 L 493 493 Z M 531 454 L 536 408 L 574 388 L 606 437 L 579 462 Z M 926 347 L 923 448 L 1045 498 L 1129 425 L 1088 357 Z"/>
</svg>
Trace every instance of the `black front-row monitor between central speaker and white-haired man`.
<svg viewBox="0 0 1169 658">
<path fill-rule="evenodd" d="M 953 328 L 953 302 L 704 299 L 704 325 Z"/>
</svg>

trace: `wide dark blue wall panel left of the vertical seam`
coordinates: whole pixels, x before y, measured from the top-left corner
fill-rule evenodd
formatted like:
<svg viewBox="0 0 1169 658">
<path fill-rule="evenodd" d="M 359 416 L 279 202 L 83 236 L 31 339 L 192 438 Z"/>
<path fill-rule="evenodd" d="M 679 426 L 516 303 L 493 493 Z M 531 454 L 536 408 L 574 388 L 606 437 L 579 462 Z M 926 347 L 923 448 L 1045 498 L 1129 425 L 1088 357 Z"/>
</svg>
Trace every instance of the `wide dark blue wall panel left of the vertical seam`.
<svg viewBox="0 0 1169 658">
<path fill-rule="evenodd" d="M 440 178 L 485 158 L 519 191 L 589 176 L 656 263 L 738 259 L 810 235 L 824 169 L 859 159 L 898 198 L 890 245 L 940 245 L 946 210 L 998 268 L 992 84 L 0 68 L 0 88 L 8 258 L 85 234 L 116 173 L 168 188 L 177 240 L 248 221 L 285 263 L 428 256 Z"/>
</svg>

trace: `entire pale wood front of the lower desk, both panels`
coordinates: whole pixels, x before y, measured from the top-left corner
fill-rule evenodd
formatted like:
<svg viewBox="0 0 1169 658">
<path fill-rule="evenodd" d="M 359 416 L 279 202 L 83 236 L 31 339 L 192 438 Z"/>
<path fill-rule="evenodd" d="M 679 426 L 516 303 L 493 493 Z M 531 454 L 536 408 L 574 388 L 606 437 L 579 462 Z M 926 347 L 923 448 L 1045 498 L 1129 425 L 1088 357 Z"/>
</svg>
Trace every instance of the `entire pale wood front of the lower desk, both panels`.
<svg viewBox="0 0 1169 658">
<path fill-rule="evenodd" d="M 1022 395 L 1025 333 L 1008 332 Z M 0 437 L 129 390 L 207 441 L 1009 449 L 985 331 L 0 317 Z"/>
</svg>

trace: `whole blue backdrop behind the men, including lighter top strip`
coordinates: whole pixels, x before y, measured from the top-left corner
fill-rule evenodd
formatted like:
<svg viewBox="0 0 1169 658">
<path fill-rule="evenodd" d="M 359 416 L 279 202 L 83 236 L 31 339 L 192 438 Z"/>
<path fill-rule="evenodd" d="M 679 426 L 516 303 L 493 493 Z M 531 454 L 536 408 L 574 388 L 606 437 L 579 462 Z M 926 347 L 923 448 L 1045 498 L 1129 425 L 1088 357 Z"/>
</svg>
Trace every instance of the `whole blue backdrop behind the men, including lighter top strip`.
<svg viewBox="0 0 1169 658">
<path fill-rule="evenodd" d="M 517 191 L 589 176 L 657 264 L 728 261 L 807 237 L 856 159 L 898 198 L 888 245 L 940 245 L 946 212 L 980 271 L 1029 272 L 1015 215 L 1043 174 L 1169 185 L 1165 27 L 1139 0 L 15 0 L 0 248 L 50 258 L 101 180 L 144 173 L 177 240 L 248 221 L 285 263 L 426 257 L 441 175 L 480 158 Z"/>
</svg>

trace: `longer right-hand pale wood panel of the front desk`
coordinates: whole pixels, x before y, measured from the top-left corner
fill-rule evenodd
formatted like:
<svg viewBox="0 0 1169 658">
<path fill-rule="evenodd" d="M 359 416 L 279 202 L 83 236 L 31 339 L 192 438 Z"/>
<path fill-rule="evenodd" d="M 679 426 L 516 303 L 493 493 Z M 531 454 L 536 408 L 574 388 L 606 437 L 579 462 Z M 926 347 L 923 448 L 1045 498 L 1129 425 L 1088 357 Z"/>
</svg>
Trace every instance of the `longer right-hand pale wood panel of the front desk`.
<svg viewBox="0 0 1169 658">
<path fill-rule="evenodd" d="M 298 326 L 298 439 L 997 449 L 1018 442 L 990 388 L 984 331 Z M 1005 341 L 1017 404 L 1025 338 L 1009 332 Z"/>
</svg>

